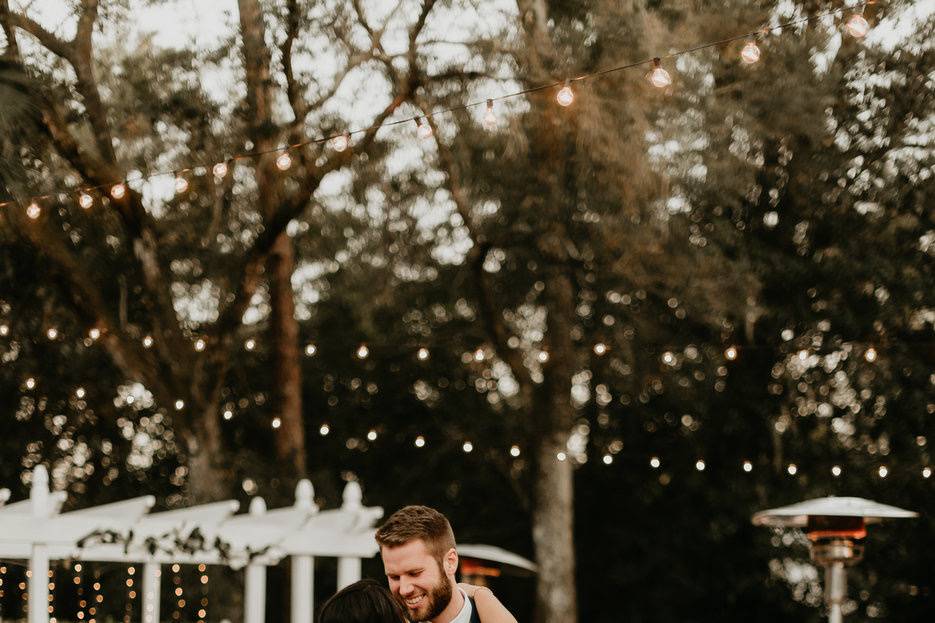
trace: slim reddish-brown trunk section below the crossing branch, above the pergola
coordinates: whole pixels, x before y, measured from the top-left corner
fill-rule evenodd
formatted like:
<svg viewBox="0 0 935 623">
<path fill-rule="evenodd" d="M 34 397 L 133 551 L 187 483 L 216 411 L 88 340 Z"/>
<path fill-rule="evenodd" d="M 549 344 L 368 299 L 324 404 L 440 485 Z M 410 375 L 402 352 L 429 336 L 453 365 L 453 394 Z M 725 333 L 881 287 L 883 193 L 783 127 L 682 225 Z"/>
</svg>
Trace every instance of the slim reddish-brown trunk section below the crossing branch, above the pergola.
<svg viewBox="0 0 935 623">
<path fill-rule="evenodd" d="M 292 240 L 282 234 L 273 246 L 267 274 L 270 284 L 272 318 L 270 333 L 275 413 L 281 420 L 276 431 L 276 458 L 281 466 L 288 466 L 289 475 L 304 478 L 307 475 L 305 455 L 305 421 L 302 418 L 302 361 L 299 352 L 299 323 L 295 319 L 295 298 L 292 273 L 295 256 Z M 283 474 L 285 476 L 285 474 Z"/>
</svg>

